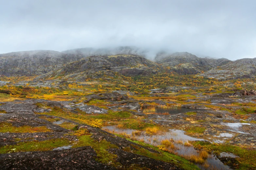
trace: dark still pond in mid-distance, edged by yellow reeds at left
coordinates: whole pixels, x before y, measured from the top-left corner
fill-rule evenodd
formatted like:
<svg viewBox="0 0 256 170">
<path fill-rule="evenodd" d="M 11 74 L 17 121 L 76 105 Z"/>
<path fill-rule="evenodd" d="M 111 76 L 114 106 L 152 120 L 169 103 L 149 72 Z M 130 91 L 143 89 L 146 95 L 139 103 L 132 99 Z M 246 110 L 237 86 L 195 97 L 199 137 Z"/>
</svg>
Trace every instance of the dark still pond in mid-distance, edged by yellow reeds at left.
<svg viewBox="0 0 256 170">
<path fill-rule="evenodd" d="M 158 113 L 158 114 L 170 114 L 170 115 L 177 115 L 179 113 L 185 113 L 185 112 L 193 112 L 193 111 L 202 111 L 203 109 L 189 109 L 185 107 L 178 107 L 178 108 L 161 108 L 157 107 L 156 111 L 152 113 Z M 150 113 L 150 112 L 149 112 Z"/>
</svg>

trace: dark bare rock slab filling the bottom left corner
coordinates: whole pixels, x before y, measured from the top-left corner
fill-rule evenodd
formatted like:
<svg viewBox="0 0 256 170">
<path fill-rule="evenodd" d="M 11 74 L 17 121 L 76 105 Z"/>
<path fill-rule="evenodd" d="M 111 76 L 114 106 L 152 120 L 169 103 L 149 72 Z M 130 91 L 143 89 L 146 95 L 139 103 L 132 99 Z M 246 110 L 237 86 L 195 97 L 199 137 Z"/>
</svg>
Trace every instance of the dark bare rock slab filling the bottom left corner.
<svg viewBox="0 0 256 170">
<path fill-rule="evenodd" d="M 0 154 L 0 169 L 115 169 L 95 161 L 92 147 Z"/>
</svg>

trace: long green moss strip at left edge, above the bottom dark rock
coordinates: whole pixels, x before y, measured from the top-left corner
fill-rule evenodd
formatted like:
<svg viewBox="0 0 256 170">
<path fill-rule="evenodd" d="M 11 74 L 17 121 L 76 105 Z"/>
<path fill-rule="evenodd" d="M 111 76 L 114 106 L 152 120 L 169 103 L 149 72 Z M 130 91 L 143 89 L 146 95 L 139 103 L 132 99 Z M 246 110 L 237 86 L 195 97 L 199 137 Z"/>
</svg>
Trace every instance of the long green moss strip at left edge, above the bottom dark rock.
<svg viewBox="0 0 256 170">
<path fill-rule="evenodd" d="M 6 145 L 0 148 L 0 153 L 47 151 L 72 144 L 68 139 L 51 139 L 45 141 L 20 142 L 17 145 Z"/>
</svg>

